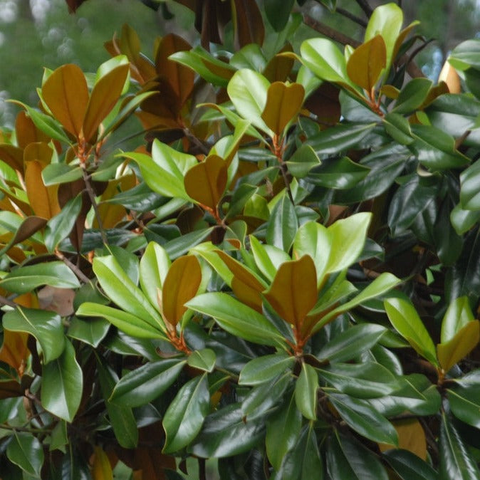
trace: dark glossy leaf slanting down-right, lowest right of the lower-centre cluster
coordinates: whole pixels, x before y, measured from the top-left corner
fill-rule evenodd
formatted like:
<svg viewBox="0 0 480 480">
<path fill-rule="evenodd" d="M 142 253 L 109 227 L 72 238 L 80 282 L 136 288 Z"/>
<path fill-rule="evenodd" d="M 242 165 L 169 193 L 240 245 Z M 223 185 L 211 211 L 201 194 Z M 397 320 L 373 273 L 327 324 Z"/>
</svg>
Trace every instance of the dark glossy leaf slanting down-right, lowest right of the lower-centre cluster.
<svg viewBox="0 0 480 480">
<path fill-rule="evenodd" d="M 393 425 L 362 400 L 337 393 L 328 394 L 328 400 L 355 432 L 373 442 L 398 444 L 397 431 Z"/>
</svg>

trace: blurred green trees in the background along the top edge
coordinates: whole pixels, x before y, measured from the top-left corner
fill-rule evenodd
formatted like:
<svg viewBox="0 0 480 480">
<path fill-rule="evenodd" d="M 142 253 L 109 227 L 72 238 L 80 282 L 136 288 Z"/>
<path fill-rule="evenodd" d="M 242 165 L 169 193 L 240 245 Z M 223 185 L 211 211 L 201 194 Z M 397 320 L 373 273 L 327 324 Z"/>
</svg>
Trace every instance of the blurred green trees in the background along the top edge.
<svg viewBox="0 0 480 480">
<path fill-rule="evenodd" d="M 130 24 L 140 36 L 142 51 L 151 58 L 157 36 L 174 31 L 190 42 L 198 39 L 193 12 L 171 0 L 143 0 L 159 4 L 155 11 L 141 0 L 88 0 L 76 14 L 68 13 L 65 0 L 0 0 L 0 125 L 13 124 L 16 108 L 5 100 L 14 98 L 36 105 L 36 88 L 43 68 L 77 63 L 83 71 L 96 71 L 108 60 L 103 43 Z M 282 0 L 278 0 L 282 1 Z M 373 7 L 387 1 L 371 0 Z M 403 0 L 405 25 L 422 23 L 417 33 L 430 40 L 416 57 L 424 74 L 437 80 L 449 51 L 467 38 L 480 36 L 480 0 Z M 338 0 L 340 8 L 363 19 L 354 0 Z M 353 38 L 362 38 L 362 28 L 349 19 L 330 14 L 318 1 L 310 0 L 302 11 Z M 167 17 L 173 16 L 173 19 Z M 267 27 L 268 28 L 268 27 Z M 273 31 L 271 36 L 276 35 Z M 303 26 L 293 45 L 317 33 Z M 198 40 L 197 40 L 198 41 Z M 420 43 L 417 43 L 420 45 Z"/>
</svg>

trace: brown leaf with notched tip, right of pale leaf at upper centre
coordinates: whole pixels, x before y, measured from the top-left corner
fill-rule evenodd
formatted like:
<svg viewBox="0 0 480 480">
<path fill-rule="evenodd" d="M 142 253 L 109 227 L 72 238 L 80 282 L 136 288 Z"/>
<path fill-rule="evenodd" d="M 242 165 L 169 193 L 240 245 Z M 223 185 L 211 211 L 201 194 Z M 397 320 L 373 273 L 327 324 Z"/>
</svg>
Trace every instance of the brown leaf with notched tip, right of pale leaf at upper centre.
<svg viewBox="0 0 480 480">
<path fill-rule="evenodd" d="M 282 135 L 286 125 L 300 112 L 304 96 L 305 89 L 300 83 L 272 83 L 261 118 L 276 135 Z"/>
</svg>

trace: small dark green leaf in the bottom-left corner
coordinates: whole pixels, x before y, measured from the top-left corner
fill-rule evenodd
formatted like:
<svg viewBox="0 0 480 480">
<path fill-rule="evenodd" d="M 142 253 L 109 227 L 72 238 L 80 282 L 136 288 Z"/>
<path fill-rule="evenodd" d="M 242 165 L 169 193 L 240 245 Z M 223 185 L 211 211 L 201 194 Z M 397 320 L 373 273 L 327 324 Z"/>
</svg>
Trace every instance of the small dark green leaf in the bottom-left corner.
<svg viewBox="0 0 480 480">
<path fill-rule="evenodd" d="M 6 447 L 6 456 L 27 474 L 40 478 L 44 459 L 43 447 L 33 434 L 14 432 Z"/>
</svg>

